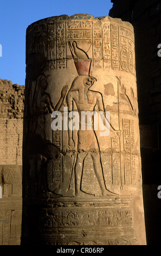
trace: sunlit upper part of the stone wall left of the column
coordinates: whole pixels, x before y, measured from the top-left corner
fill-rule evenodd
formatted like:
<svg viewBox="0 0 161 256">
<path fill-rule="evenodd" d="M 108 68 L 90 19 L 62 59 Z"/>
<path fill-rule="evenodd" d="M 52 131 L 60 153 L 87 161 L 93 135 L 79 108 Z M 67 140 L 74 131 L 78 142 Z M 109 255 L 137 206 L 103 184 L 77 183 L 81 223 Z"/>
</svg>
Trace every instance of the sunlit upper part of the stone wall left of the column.
<svg viewBox="0 0 161 256">
<path fill-rule="evenodd" d="M 0 163 L 22 166 L 24 86 L 0 79 Z"/>
</svg>

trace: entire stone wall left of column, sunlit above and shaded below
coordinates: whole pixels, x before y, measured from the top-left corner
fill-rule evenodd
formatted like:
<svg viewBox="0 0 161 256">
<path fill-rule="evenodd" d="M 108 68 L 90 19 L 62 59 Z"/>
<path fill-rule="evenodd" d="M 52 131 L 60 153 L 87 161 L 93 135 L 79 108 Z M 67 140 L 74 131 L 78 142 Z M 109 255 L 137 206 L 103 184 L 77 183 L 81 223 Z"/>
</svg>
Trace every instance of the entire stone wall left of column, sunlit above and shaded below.
<svg viewBox="0 0 161 256">
<path fill-rule="evenodd" d="M 0 79 L 0 245 L 20 245 L 24 86 Z"/>
</svg>

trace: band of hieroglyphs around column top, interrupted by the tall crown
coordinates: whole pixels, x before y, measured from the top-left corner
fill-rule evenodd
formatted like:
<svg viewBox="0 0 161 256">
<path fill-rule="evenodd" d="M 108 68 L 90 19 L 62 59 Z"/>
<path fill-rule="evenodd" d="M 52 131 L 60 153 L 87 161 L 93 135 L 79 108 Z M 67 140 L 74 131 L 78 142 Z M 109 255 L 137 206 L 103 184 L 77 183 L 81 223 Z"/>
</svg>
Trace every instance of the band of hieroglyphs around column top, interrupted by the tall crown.
<svg viewBox="0 0 161 256">
<path fill-rule="evenodd" d="M 46 34 L 48 34 L 47 45 L 44 41 Z M 37 45 L 35 40 L 39 36 L 42 42 Z M 54 38 L 57 41 L 56 45 Z M 92 40 L 95 68 L 134 72 L 134 33 L 113 22 L 66 20 L 66 22 L 57 21 L 33 26 L 33 29 L 28 29 L 26 53 L 28 55 L 42 52 L 44 47 L 44 54 L 48 57 L 48 70 L 64 69 L 66 40 Z"/>
</svg>

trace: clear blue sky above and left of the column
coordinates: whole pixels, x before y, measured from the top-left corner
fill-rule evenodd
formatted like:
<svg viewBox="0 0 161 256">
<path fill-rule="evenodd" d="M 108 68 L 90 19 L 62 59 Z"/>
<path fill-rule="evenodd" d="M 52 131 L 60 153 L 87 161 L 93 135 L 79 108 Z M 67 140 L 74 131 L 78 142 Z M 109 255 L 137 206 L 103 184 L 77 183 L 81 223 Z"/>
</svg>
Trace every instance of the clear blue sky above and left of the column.
<svg viewBox="0 0 161 256">
<path fill-rule="evenodd" d="M 25 83 L 26 29 L 31 23 L 62 14 L 108 16 L 112 5 L 110 0 L 0 0 L 0 78 Z"/>
</svg>

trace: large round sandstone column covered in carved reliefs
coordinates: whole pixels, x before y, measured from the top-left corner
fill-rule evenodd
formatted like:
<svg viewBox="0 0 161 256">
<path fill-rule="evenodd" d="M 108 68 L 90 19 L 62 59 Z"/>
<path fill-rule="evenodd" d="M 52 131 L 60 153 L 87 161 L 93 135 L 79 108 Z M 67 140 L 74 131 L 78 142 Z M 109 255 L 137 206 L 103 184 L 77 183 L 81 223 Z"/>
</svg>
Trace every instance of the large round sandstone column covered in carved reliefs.
<svg viewBox="0 0 161 256">
<path fill-rule="evenodd" d="M 22 244 L 145 245 L 132 25 L 40 20 L 26 65 Z"/>
</svg>

